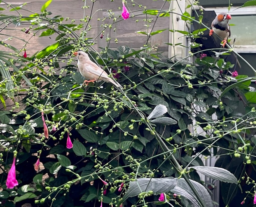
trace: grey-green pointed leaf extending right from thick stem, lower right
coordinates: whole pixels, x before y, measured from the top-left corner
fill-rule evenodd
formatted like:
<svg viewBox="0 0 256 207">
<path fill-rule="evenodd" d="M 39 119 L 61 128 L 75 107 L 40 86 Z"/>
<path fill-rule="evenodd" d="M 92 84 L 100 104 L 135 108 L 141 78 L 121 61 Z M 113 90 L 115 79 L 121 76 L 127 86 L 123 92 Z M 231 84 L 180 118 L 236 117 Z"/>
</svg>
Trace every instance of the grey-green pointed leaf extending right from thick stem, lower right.
<svg viewBox="0 0 256 207">
<path fill-rule="evenodd" d="M 196 171 L 202 173 L 206 177 L 209 177 L 215 180 L 220 180 L 225 183 L 238 184 L 237 178 L 232 173 L 220 167 L 194 166 L 194 167 L 188 167 L 188 169 L 195 169 Z"/>
</svg>

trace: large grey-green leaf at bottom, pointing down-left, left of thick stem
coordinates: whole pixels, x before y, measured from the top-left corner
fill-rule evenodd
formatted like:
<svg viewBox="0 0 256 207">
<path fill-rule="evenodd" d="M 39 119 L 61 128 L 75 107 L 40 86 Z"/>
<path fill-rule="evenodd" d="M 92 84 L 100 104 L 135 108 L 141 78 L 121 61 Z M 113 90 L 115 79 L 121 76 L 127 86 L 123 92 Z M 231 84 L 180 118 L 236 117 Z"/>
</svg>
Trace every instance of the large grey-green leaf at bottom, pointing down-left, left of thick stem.
<svg viewBox="0 0 256 207">
<path fill-rule="evenodd" d="M 126 191 L 122 202 L 129 197 L 138 196 L 141 192 L 153 191 L 154 195 L 159 195 L 173 189 L 177 185 L 177 178 L 138 178 L 131 181 L 129 189 Z M 119 205 L 118 205 L 119 206 Z"/>
</svg>

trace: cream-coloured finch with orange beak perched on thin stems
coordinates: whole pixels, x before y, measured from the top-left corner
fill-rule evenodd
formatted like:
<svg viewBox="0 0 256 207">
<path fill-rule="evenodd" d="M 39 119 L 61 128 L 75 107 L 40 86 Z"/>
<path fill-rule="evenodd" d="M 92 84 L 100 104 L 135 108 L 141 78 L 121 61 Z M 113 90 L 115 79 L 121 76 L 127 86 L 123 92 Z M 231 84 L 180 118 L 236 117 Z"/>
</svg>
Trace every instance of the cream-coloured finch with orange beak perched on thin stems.
<svg viewBox="0 0 256 207">
<path fill-rule="evenodd" d="M 119 83 L 115 83 L 110 77 L 108 77 L 108 74 L 102 70 L 97 64 L 92 62 L 87 55 L 87 53 L 83 51 L 77 51 L 73 53 L 77 57 L 77 66 L 79 69 L 79 72 L 84 76 L 86 79 L 89 79 L 89 81 L 85 80 L 84 83 L 86 85 L 89 82 L 97 81 L 106 81 L 109 83 L 112 83 L 116 87 L 121 87 Z"/>
</svg>

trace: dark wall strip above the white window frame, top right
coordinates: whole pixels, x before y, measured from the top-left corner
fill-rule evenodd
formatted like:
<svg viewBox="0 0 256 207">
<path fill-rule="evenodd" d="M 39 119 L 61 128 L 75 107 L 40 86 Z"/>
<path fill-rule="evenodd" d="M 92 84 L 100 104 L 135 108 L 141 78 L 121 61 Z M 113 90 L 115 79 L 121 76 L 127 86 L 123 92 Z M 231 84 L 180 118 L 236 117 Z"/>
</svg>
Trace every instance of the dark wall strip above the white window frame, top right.
<svg viewBox="0 0 256 207">
<path fill-rule="evenodd" d="M 203 7 L 228 7 L 229 0 L 199 0 L 200 5 Z M 233 6 L 242 6 L 246 0 L 230 0 L 230 4 Z"/>
</svg>

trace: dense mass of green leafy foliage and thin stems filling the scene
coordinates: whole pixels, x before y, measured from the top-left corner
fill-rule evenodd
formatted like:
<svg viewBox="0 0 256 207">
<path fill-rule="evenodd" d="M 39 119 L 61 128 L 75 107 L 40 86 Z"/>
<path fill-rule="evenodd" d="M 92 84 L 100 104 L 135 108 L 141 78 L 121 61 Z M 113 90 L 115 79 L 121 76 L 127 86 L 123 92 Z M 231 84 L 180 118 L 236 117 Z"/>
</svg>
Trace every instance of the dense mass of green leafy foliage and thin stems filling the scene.
<svg viewBox="0 0 256 207">
<path fill-rule="evenodd" d="M 25 46 L 1 42 L 12 53 L 0 51 L 0 202 L 4 206 L 100 206 L 101 201 L 104 206 L 213 206 L 208 186 L 220 180 L 225 205 L 236 196 L 232 202 L 247 197 L 247 205 L 252 206 L 253 78 L 232 77 L 233 65 L 222 58 L 195 53 L 189 55 L 197 56 L 193 62 L 188 57 L 172 61 L 149 45 L 137 51 L 106 47 L 99 54 L 92 47 L 94 40 L 86 37 L 91 17 L 84 17 L 86 25 L 73 20 L 63 24 L 63 17 L 49 17 L 50 3 L 42 6 L 41 14 L 0 17 L 6 27 L 29 22 L 29 28 L 22 29 L 26 34 L 56 35 L 54 44 L 30 57 L 21 55 Z M 14 12 L 23 9 L 8 7 Z M 156 18 L 172 14 L 140 11 Z M 116 18 L 110 13 L 113 23 L 119 21 Z M 187 11 L 182 20 L 194 21 Z M 102 33 L 108 27 L 112 24 L 104 23 Z M 137 33 L 146 35 L 148 42 L 163 31 Z M 203 31 L 170 30 L 193 38 Z M 83 86 L 71 56 L 78 49 L 90 49 L 91 59 L 123 88 L 109 83 Z M 7 99 L 13 101 L 12 108 L 6 106 Z M 68 137 L 73 143 L 70 149 Z M 7 189 L 5 181 L 16 152 L 19 185 Z M 215 167 L 204 166 L 202 160 L 211 157 L 218 157 Z M 38 158 L 39 170 L 35 170 Z M 198 172 L 211 178 L 211 183 L 200 180 Z M 155 202 L 160 193 L 167 200 Z"/>
</svg>

